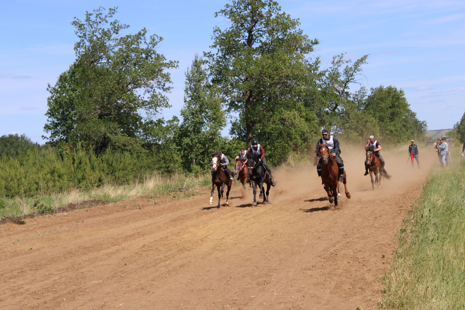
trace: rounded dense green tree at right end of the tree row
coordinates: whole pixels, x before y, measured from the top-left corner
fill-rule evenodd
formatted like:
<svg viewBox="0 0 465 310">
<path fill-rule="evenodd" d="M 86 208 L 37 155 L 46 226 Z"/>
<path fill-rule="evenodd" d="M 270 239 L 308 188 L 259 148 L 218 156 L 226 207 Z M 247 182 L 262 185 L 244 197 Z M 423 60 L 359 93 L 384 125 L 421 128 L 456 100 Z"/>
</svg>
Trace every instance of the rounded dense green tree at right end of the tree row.
<svg viewBox="0 0 465 310">
<path fill-rule="evenodd" d="M 363 112 L 376 119 L 383 140 L 391 143 L 405 142 L 413 137 L 423 137 L 426 122 L 417 119 L 410 109 L 402 89 L 394 86 L 371 88 L 362 104 Z"/>
</svg>

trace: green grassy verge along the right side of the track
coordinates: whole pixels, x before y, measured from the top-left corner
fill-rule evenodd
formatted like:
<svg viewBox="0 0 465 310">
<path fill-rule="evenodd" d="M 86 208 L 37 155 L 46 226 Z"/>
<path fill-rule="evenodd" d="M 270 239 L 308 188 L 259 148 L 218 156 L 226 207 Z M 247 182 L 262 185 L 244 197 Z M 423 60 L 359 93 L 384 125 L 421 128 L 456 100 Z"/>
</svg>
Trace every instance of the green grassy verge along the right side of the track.
<svg viewBox="0 0 465 310">
<path fill-rule="evenodd" d="M 435 163 L 399 230 L 381 309 L 465 309 L 465 159 L 451 150 L 452 165 Z"/>
</svg>

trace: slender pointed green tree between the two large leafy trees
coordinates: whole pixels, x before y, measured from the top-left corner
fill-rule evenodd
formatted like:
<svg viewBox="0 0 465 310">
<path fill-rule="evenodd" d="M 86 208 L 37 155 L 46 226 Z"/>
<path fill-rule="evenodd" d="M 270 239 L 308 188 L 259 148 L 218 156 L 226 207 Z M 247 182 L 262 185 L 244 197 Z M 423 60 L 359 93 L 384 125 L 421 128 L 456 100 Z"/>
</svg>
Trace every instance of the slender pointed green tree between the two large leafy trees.
<svg viewBox="0 0 465 310">
<path fill-rule="evenodd" d="M 219 148 L 221 130 L 226 125 L 225 112 L 217 90 L 209 82 L 204 60 L 195 54 L 186 71 L 183 118 L 179 125 L 179 146 L 187 171 L 203 170 L 210 152 Z M 196 168 L 197 167 L 197 168 Z"/>
</svg>

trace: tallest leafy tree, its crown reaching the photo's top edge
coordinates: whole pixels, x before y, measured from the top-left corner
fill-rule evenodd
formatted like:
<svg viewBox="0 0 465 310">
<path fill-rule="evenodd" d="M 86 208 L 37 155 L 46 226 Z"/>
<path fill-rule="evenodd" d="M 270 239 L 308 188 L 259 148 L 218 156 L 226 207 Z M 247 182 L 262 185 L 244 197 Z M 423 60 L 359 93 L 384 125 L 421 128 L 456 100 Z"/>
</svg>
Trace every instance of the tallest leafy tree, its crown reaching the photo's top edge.
<svg viewBox="0 0 465 310">
<path fill-rule="evenodd" d="M 244 127 L 236 129 L 245 132 L 249 145 L 257 136 L 271 146 L 270 133 L 276 128 L 295 136 L 289 117 L 306 121 L 305 112 L 294 106 L 314 86 L 315 65 L 307 56 L 318 41 L 303 34 L 299 20 L 281 12 L 273 0 L 232 0 L 215 16 L 225 17 L 230 26 L 213 30 L 213 52 L 206 56 L 229 111 L 239 112 L 233 126 Z M 289 152 L 292 143 L 279 152 Z"/>
</svg>

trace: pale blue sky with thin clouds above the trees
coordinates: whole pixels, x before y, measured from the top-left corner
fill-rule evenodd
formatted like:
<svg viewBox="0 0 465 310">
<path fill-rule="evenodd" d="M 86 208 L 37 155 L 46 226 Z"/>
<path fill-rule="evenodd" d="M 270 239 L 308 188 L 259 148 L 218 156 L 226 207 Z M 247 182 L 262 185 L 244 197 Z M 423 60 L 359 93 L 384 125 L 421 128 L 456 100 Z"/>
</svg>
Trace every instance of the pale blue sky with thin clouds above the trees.
<svg viewBox="0 0 465 310">
<path fill-rule="evenodd" d="M 40 138 L 46 123 L 47 83 L 75 59 L 71 21 L 98 6 L 118 6 L 116 17 L 136 32 L 146 27 L 164 41 L 159 53 L 179 60 L 172 71 L 171 109 L 183 105 L 184 72 L 194 53 L 207 51 L 213 27 L 227 26 L 214 18 L 225 1 L 64 1 L 1 0 L 0 135 L 25 133 Z M 305 1 L 282 0 L 281 8 L 299 18 L 301 29 L 317 38 L 313 55 L 323 67 L 332 55 L 357 59 L 370 54 L 363 85 L 394 85 L 429 129 L 452 128 L 465 112 L 465 1 Z"/>
</svg>

